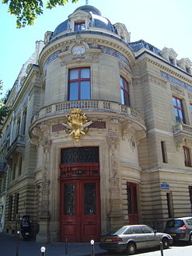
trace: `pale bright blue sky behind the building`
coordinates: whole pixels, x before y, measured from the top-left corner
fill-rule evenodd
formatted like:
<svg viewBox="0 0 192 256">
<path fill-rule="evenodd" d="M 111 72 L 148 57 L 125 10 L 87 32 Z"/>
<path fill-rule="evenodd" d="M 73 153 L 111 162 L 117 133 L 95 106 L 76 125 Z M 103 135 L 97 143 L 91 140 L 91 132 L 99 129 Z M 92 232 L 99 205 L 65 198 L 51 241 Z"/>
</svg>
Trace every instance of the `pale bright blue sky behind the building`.
<svg viewBox="0 0 192 256">
<path fill-rule="evenodd" d="M 0 79 L 4 93 L 12 88 L 23 63 L 33 54 L 35 42 L 44 40 L 44 33 L 54 31 L 82 5 L 86 0 L 45 9 L 35 25 L 16 29 L 16 16 L 0 3 Z M 131 32 L 131 42 L 142 39 L 159 50 L 173 48 L 176 59 L 192 61 L 192 0 L 89 0 L 89 5 L 112 24 L 123 23 Z"/>
</svg>

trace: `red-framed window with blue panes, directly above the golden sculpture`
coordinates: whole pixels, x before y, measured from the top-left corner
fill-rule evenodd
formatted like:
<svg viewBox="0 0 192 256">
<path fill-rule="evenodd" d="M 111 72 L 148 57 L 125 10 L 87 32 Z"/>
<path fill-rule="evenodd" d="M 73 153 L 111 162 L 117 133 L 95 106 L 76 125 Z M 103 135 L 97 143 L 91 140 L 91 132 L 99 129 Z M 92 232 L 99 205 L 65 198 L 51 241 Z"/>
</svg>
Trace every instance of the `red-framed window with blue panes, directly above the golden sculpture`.
<svg viewBox="0 0 192 256">
<path fill-rule="evenodd" d="M 90 100 L 90 68 L 69 70 L 68 100 Z"/>
</svg>

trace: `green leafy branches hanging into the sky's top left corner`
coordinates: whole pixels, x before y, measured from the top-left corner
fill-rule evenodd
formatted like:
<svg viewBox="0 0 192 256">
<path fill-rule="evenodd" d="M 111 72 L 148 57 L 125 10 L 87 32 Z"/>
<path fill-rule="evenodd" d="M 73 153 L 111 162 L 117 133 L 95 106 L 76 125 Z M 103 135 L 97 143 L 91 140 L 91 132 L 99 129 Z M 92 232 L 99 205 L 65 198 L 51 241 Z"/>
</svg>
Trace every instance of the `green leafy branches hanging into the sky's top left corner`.
<svg viewBox="0 0 192 256">
<path fill-rule="evenodd" d="M 56 5 L 66 5 L 67 2 L 78 2 L 79 0 L 50 0 L 45 8 L 52 9 Z M 21 28 L 26 25 L 33 25 L 37 16 L 44 12 L 43 0 L 2 0 L 3 4 L 9 5 L 8 12 L 16 16 L 16 27 Z"/>
</svg>

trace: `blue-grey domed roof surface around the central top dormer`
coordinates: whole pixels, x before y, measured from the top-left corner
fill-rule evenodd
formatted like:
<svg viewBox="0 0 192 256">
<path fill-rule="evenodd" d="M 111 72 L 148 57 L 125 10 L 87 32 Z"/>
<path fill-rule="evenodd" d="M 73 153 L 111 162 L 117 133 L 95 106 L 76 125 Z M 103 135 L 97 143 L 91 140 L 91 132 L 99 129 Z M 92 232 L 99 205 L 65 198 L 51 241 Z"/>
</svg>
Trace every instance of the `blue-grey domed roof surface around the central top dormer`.
<svg viewBox="0 0 192 256">
<path fill-rule="evenodd" d="M 99 10 L 96 9 L 95 7 L 93 7 L 91 5 L 83 5 L 77 9 L 75 9 L 75 12 L 79 11 L 79 10 L 90 13 L 91 19 L 89 22 L 89 27 L 99 27 L 101 29 L 110 30 L 113 33 L 117 33 L 117 30 L 110 23 L 110 20 L 101 16 L 101 12 L 99 12 Z M 69 29 L 70 29 L 70 22 L 69 22 L 69 19 L 67 19 L 67 20 L 65 20 L 65 22 L 59 24 L 56 27 L 52 38 L 56 37 L 59 33 L 64 32 L 65 30 L 69 30 Z"/>
</svg>

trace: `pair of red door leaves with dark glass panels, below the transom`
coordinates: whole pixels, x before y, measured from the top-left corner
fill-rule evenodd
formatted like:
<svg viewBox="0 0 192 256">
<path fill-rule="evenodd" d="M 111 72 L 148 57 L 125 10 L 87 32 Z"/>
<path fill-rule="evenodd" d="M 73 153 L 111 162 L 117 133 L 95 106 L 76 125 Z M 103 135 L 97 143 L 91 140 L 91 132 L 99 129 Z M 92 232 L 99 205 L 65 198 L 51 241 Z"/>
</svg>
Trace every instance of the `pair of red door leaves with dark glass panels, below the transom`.
<svg viewBox="0 0 192 256">
<path fill-rule="evenodd" d="M 61 181 L 61 240 L 99 240 L 99 179 Z"/>
</svg>

